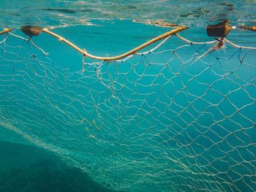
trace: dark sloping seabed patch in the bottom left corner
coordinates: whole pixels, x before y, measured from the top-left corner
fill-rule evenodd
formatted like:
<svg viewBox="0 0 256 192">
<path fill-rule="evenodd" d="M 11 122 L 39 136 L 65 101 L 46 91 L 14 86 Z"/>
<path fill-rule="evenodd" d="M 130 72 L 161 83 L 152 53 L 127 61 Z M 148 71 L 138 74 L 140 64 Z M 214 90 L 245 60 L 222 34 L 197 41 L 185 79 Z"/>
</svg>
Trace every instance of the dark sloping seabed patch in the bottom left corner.
<svg viewBox="0 0 256 192">
<path fill-rule="evenodd" d="M 39 147 L 0 141 L 1 192 L 111 192 Z"/>
</svg>

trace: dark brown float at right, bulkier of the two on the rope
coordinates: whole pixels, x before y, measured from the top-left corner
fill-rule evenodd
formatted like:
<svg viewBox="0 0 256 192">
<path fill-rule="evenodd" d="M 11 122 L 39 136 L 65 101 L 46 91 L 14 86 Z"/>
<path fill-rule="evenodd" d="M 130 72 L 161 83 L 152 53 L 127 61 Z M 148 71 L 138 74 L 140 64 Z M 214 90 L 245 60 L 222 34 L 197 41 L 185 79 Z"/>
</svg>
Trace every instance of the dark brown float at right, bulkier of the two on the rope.
<svg viewBox="0 0 256 192">
<path fill-rule="evenodd" d="M 227 37 L 230 30 L 231 26 L 228 20 L 223 20 L 217 25 L 206 26 L 206 32 L 209 37 Z"/>
</svg>

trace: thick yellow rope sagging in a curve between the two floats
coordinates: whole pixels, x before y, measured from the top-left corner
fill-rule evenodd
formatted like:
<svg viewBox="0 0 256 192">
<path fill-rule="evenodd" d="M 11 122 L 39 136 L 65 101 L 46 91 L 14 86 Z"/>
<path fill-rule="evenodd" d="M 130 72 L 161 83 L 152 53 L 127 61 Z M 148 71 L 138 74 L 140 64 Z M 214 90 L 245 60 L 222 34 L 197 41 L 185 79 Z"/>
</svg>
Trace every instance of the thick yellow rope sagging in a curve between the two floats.
<svg viewBox="0 0 256 192">
<path fill-rule="evenodd" d="M 78 46 L 72 44 L 72 42 L 69 42 L 67 39 L 64 39 L 63 37 L 59 36 L 58 34 L 55 34 L 52 31 L 49 31 L 47 28 L 42 28 L 40 30 L 45 32 L 46 34 L 50 34 L 51 36 L 58 38 L 59 41 L 61 41 L 61 42 L 67 43 L 67 45 L 73 47 L 75 50 L 78 50 L 78 52 L 82 53 L 86 57 L 93 58 L 93 59 L 96 59 L 96 60 L 102 60 L 102 61 L 114 61 L 114 60 L 118 60 L 118 59 L 121 59 L 121 58 L 125 58 L 128 55 L 132 55 L 132 54 L 138 52 L 139 50 L 142 50 L 143 48 L 148 47 L 148 45 L 151 45 L 154 42 L 158 42 L 161 39 L 165 39 L 166 37 L 172 36 L 173 34 L 177 34 L 178 32 L 184 31 L 185 29 L 187 29 L 187 27 L 184 27 L 184 26 L 178 27 L 176 29 L 173 29 L 172 31 L 168 31 L 165 34 L 160 35 L 159 37 L 151 39 L 150 41 L 144 43 L 143 45 L 140 45 L 139 47 L 136 47 L 132 50 L 129 50 L 127 53 L 117 55 L 117 56 L 113 56 L 113 57 L 99 57 L 99 56 L 91 55 L 91 54 L 87 53 L 86 50 L 80 49 Z"/>
</svg>

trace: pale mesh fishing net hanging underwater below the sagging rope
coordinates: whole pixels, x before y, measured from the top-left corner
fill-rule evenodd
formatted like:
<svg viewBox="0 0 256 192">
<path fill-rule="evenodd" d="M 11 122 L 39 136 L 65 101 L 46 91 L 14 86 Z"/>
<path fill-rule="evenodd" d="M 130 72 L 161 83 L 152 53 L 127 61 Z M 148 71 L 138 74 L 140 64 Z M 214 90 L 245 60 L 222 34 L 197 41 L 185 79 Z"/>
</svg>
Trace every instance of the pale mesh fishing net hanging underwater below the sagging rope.
<svg viewBox="0 0 256 192">
<path fill-rule="evenodd" d="M 167 37 L 74 72 L 1 34 L 1 137 L 116 191 L 256 191 L 256 50 L 215 44 Z"/>
</svg>

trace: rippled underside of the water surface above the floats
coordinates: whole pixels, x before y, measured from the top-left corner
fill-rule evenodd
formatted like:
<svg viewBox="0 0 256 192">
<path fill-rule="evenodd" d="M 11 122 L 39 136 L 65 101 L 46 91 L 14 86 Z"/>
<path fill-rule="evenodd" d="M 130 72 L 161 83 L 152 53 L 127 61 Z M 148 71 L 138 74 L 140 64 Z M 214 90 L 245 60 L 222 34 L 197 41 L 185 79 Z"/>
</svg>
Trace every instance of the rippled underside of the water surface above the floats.
<svg viewBox="0 0 256 192">
<path fill-rule="evenodd" d="M 39 26 L 75 26 L 94 23 L 91 19 L 163 19 L 186 26 L 227 18 L 250 25 L 255 22 L 255 1 L 1 1 L 1 23 L 4 26 L 37 23 Z M 10 20 L 9 18 L 12 17 Z"/>
</svg>

